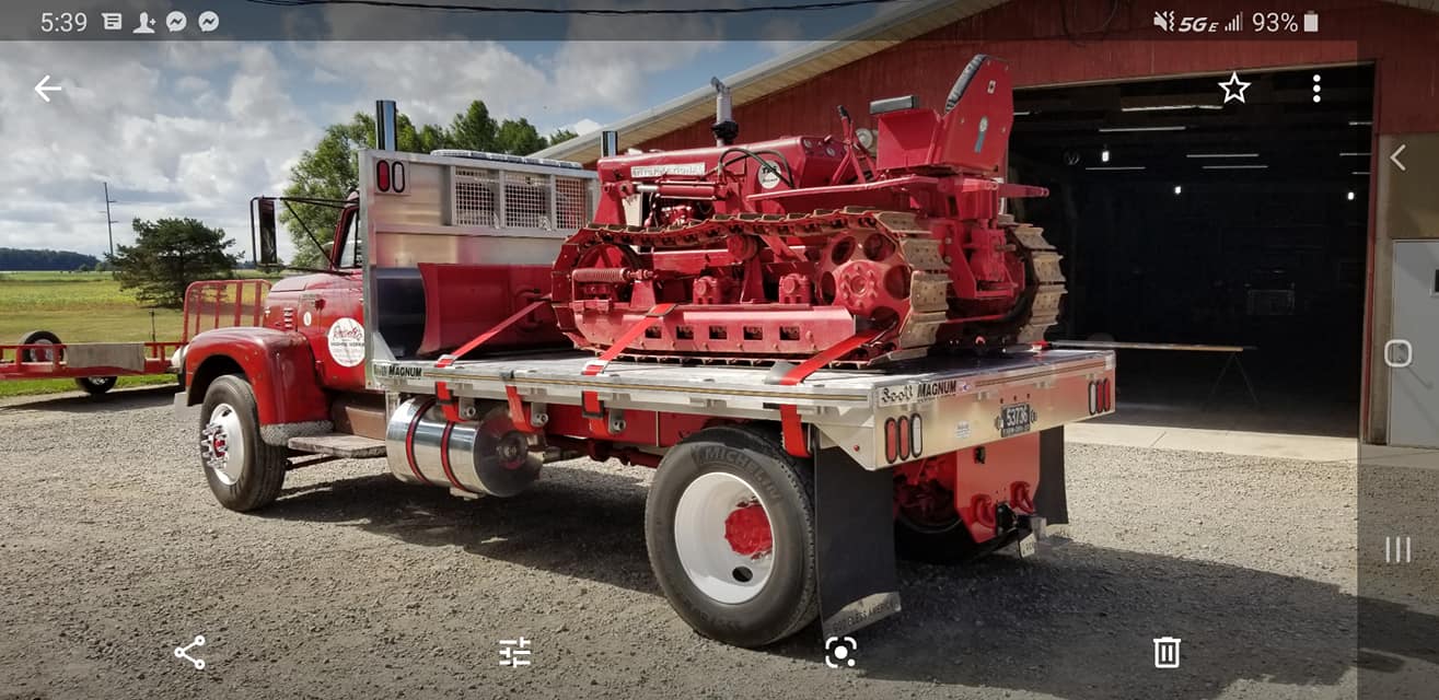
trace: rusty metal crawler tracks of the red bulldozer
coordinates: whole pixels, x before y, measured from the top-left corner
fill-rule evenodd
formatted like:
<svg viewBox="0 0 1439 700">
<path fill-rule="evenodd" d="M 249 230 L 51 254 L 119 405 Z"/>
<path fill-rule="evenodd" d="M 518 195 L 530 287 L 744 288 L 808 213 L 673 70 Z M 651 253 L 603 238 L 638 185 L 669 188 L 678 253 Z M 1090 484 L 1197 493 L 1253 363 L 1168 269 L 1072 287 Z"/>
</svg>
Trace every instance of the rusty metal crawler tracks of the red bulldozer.
<svg viewBox="0 0 1439 700">
<path fill-rule="evenodd" d="M 1042 341 L 1045 331 L 1055 325 L 1059 316 L 1059 300 L 1065 293 L 1065 277 L 1059 270 L 1059 253 L 1043 237 L 1043 230 L 1016 223 L 1012 216 L 999 218 L 1016 252 L 1026 262 L 1032 276 L 1032 298 L 1022 310 L 1025 321 L 1012 331 L 1012 342 L 1029 344 Z M 866 365 L 878 361 L 907 359 L 924 355 L 935 345 L 940 328 L 948 318 L 950 263 L 945 262 L 941 241 L 915 214 L 905 211 L 872 210 L 866 207 L 845 207 L 837 210 L 814 210 L 794 214 L 715 214 L 699 221 L 665 227 L 642 227 L 620 224 L 591 224 L 581 229 L 571 240 L 587 249 L 600 244 L 623 244 L 652 250 L 695 249 L 724 244 L 731 236 L 754 236 L 764 241 L 776 254 L 790 254 L 784 239 L 800 239 L 804 243 L 822 243 L 839 234 L 861 239 L 868 233 L 888 236 L 899 250 L 904 263 L 911 269 L 909 313 L 896 332 L 884 333 L 869 346 L 866 358 L 853 358 L 835 365 Z M 698 361 L 705 364 L 770 364 L 793 358 L 735 358 L 696 356 L 692 354 L 635 352 L 619 356 L 659 362 Z"/>
</svg>

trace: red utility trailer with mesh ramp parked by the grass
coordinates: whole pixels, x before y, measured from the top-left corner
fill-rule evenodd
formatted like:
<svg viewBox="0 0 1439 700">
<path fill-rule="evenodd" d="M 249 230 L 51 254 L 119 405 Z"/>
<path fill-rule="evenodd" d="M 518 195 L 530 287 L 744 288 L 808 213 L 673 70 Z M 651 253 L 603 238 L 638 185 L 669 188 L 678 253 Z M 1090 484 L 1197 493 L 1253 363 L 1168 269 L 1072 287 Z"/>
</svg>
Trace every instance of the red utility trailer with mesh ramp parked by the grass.
<svg viewBox="0 0 1439 700">
<path fill-rule="evenodd" d="M 50 331 L 30 331 L 14 345 L 0 345 L 0 381 L 75 379 L 91 395 L 115 387 L 119 377 L 181 372 L 191 335 L 207 329 L 256 325 L 263 279 L 201 280 L 186 287 L 184 331 L 178 341 L 72 342 Z"/>
</svg>

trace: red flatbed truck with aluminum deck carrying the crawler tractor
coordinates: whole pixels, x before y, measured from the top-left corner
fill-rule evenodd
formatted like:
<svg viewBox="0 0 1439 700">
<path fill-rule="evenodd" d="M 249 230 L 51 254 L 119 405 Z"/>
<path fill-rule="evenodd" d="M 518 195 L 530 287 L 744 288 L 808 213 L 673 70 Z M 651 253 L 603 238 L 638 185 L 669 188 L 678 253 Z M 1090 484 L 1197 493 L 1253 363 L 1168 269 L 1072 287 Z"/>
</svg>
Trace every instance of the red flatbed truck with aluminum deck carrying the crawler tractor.
<svg viewBox="0 0 1439 700">
<path fill-rule="evenodd" d="M 272 502 L 307 456 L 383 456 L 400 482 L 463 497 L 512 496 L 547 457 L 656 467 L 645 520 L 666 598 L 754 647 L 896 612 L 896 552 L 1032 552 L 1065 507 L 1062 427 L 1112 411 L 1111 352 L 604 361 L 545 303 L 593 172 L 366 151 L 360 174 L 331 272 L 275 283 L 258 328 L 187 346 L 176 404 L 200 408 L 200 467 L 233 510 Z M 275 206 L 256 201 L 268 259 Z"/>
</svg>

